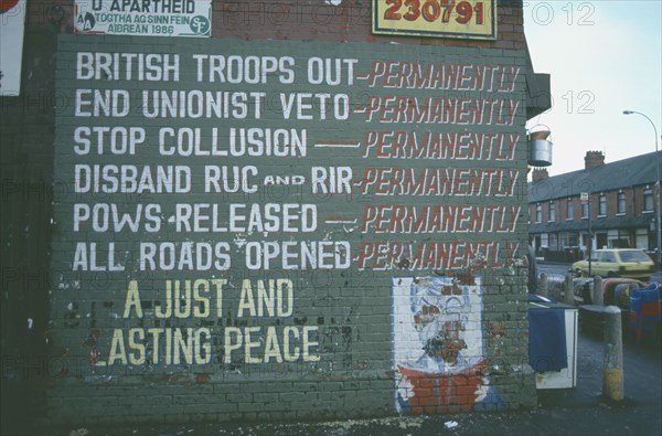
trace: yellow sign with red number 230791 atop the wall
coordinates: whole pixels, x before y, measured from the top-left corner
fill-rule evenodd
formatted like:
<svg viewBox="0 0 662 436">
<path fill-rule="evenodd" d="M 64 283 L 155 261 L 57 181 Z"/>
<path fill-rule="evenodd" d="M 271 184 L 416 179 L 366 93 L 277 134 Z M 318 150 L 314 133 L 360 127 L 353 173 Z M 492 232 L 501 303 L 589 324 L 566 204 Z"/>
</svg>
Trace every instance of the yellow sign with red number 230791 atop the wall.
<svg viewBox="0 0 662 436">
<path fill-rule="evenodd" d="M 496 39 L 496 0 L 373 0 L 373 33 Z"/>
</svg>

